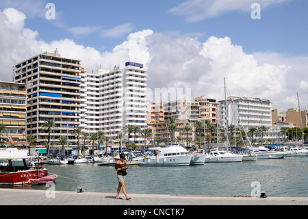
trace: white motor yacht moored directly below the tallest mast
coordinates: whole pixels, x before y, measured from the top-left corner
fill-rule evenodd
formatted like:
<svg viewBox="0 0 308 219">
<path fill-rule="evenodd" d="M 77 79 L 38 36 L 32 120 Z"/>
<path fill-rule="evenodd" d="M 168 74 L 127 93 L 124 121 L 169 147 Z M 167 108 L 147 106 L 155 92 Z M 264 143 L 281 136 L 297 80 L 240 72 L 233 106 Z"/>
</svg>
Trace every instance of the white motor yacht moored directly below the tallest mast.
<svg viewBox="0 0 308 219">
<path fill-rule="evenodd" d="M 225 150 L 213 150 L 206 154 L 205 163 L 242 162 L 243 155 Z"/>
</svg>

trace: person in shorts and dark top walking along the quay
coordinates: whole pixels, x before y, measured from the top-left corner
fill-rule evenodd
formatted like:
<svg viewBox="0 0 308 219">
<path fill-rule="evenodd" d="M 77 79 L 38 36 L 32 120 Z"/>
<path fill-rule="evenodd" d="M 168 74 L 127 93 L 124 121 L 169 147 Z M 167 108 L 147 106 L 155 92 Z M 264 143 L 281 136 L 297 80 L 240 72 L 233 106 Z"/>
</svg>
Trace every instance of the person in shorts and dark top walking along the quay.
<svg viewBox="0 0 308 219">
<path fill-rule="evenodd" d="M 123 199 L 120 198 L 120 189 L 122 188 L 123 194 L 125 195 L 126 199 L 131 199 L 127 196 L 126 189 L 125 189 L 125 176 L 127 175 L 127 165 L 125 163 L 125 154 L 120 154 L 120 159 L 116 161 L 116 171 L 118 176 L 118 190 L 116 190 L 116 199 Z"/>
</svg>

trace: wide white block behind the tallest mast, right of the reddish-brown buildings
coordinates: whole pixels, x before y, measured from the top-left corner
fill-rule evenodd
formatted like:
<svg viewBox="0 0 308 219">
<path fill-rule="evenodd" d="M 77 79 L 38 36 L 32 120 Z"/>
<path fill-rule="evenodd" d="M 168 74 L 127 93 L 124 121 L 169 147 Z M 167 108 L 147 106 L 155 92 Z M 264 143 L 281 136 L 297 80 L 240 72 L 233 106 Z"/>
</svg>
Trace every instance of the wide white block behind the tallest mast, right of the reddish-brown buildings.
<svg viewBox="0 0 308 219">
<path fill-rule="evenodd" d="M 226 119 L 229 125 L 239 128 L 251 128 L 272 125 L 272 104 L 269 100 L 253 97 L 228 97 L 227 113 L 225 100 L 218 101 L 219 126 L 226 128 Z M 226 117 L 227 116 L 227 117 Z"/>
</svg>

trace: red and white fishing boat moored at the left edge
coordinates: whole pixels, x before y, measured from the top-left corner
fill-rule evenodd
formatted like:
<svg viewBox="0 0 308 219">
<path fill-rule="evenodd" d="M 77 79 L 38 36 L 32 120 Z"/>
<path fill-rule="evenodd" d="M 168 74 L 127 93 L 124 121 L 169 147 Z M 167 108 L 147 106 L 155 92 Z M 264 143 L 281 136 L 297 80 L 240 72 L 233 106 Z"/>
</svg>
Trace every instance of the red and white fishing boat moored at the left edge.
<svg viewBox="0 0 308 219">
<path fill-rule="evenodd" d="M 0 185 L 23 185 L 48 176 L 45 168 L 29 167 L 28 152 L 16 148 L 0 149 Z"/>
</svg>

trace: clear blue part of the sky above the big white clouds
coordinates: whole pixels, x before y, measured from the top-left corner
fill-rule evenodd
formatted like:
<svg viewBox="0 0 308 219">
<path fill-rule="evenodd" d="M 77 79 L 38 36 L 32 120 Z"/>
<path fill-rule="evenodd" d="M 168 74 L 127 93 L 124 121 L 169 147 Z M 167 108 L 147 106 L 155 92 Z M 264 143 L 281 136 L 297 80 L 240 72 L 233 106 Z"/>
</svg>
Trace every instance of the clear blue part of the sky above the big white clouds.
<svg viewBox="0 0 308 219">
<path fill-rule="evenodd" d="M 26 22 L 26 27 L 37 30 L 39 38 L 44 41 L 73 38 L 82 45 L 111 50 L 125 41 L 131 32 L 151 29 L 154 32 L 198 34 L 202 42 L 209 36 L 229 36 L 234 44 L 242 45 L 248 53 L 260 50 L 301 55 L 308 53 L 308 27 L 305 25 L 308 21 L 308 1 L 304 0 L 285 1 L 266 8 L 261 5 L 260 20 L 251 19 L 253 9 L 246 7 L 246 11 L 229 11 L 195 22 L 185 21 L 185 16 L 168 12 L 185 2 L 183 0 L 51 2 L 56 10 L 54 21 L 29 15 Z M 127 31 L 123 27 L 123 32 L 118 36 L 102 36 L 104 30 L 121 25 L 127 25 Z M 68 32 L 66 27 L 95 27 L 96 31 L 82 36 Z"/>
</svg>

